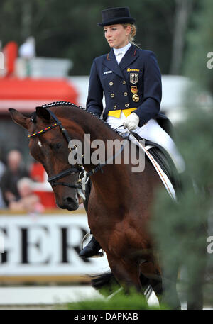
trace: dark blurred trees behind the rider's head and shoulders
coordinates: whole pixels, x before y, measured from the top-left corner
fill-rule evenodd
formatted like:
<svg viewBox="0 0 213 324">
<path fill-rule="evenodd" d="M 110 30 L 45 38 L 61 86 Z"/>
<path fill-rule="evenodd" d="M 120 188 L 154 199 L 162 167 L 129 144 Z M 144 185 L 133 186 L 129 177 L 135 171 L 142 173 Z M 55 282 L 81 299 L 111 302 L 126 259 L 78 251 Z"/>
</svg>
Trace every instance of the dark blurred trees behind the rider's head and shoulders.
<svg viewBox="0 0 213 324">
<path fill-rule="evenodd" d="M 1 0 L 2 45 L 15 40 L 21 45 L 28 36 L 36 41 L 36 53 L 65 57 L 74 62 L 73 75 L 87 75 L 94 57 L 109 50 L 104 40 L 101 11 L 112 6 L 129 6 L 136 18 L 136 43 L 153 50 L 162 74 L 181 74 L 202 0 Z"/>
</svg>

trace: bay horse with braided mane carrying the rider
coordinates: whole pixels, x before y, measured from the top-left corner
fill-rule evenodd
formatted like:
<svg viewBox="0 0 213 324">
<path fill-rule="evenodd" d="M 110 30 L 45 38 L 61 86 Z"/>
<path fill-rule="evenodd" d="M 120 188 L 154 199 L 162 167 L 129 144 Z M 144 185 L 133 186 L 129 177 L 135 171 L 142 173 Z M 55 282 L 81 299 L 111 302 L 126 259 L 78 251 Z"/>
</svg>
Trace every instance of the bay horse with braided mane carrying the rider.
<svg viewBox="0 0 213 324">
<path fill-rule="evenodd" d="M 155 190 L 163 186 L 151 162 L 146 158 L 143 172 L 134 173 L 131 162 L 124 164 L 124 155 L 120 152 L 121 164 L 106 164 L 96 172 L 92 172 L 95 169 L 92 163 L 70 168 L 68 141 L 80 140 L 84 147 L 84 135 L 89 134 L 91 142 L 101 139 L 107 147 L 107 140 L 124 138 L 75 104 L 57 102 L 36 107 L 30 117 L 12 108 L 9 111 L 13 121 L 30 133 L 31 155 L 45 167 L 60 208 L 70 211 L 78 208 L 78 174 L 82 167 L 89 172 L 92 189 L 87 206 L 88 224 L 106 252 L 116 281 L 127 291 L 131 286 L 143 291 L 143 282 L 147 279 L 159 301 L 180 309 L 176 291 L 178 269 L 173 278 L 164 278 L 149 232 Z"/>
</svg>

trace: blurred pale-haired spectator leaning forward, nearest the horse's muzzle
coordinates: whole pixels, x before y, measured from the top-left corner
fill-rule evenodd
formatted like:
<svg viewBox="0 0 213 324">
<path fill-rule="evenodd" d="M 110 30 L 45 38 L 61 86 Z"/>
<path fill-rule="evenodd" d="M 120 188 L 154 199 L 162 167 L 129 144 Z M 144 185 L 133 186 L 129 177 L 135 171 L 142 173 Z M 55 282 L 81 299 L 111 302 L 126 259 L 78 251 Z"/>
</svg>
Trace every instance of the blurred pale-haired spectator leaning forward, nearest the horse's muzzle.
<svg viewBox="0 0 213 324">
<path fill-rule="evenodd" d="M 27 213 L 43 213 L 45 211 L 38 196 L 33 193 L 32 184 L 33 182 L 29 178 L 18 180 L 17 187 L 21 198 L 18 201 L 11 201 L 9 209 L 13 211 L 26 211 Z"/>
</svg>

